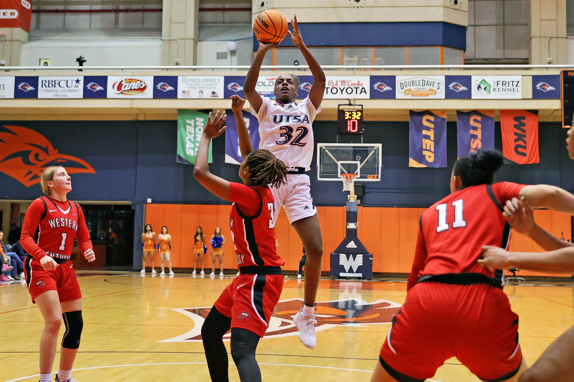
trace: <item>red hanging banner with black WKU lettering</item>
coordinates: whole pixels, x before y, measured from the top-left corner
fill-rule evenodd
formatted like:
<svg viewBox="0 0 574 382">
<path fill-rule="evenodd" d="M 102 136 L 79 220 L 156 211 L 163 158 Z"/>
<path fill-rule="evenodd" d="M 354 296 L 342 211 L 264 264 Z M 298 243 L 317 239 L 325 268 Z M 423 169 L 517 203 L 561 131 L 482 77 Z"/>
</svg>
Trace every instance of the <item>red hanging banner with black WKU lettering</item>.
<svg viewBox="0 0 574 382">
<path fill-rule="evenodd" d="M 538 113 L 501 110 L 502 153 L 518 164 L 540 163 Z"/>
</svg>

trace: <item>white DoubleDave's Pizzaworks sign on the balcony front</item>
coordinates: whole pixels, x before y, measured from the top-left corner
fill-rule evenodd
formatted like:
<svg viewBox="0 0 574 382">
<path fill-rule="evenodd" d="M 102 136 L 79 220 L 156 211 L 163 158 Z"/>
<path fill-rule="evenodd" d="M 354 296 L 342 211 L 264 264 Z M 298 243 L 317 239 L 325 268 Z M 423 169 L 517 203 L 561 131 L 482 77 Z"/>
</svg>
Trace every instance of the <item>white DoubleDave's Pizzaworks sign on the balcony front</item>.
<svg viewBox="0 0 574 382">
<path fill-rule="evenodd" d="M 396 98 L 402 100 L 444 100 L 444 76 L 397 76 Z"/>
</svg>

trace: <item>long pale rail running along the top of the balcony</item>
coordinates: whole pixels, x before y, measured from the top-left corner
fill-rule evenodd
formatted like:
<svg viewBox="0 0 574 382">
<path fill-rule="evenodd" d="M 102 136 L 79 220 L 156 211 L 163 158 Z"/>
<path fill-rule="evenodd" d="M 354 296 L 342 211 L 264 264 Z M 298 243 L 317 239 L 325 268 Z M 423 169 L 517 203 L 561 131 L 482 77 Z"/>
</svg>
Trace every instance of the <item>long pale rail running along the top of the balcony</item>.
<svg viewBox="0 0 574 382">
<path fill-rule="evenodd" d="M 148 65 L 148 66 L 0 66 L 0 72 L 20 71 L 20 70 L 183 70 L 190 71 L 211 71 L 216 70 L 249 70 L 250 65 Z M 530 69 L 574 69 L 574 65 L 525 65 L 525 64 L 508 64 L 508 65 L 321 65 L 323 70 L 355 70 L 364 72 L 384 71 L 384 70 L 530 70 Z M 261 70 L 301 70 L 308 71 L 307 65 L 262 65 Z M 367 73 L 366 73 L 367 74 Z"/>
</svg>

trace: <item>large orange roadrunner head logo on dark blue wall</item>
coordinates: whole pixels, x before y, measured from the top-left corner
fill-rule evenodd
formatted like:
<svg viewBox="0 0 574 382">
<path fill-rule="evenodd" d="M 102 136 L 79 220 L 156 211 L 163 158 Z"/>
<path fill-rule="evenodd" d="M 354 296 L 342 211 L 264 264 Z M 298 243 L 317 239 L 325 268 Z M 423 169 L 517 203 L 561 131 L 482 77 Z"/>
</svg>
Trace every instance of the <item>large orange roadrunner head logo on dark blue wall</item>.
<svg viewBox="0 0 574 382">
<path fill-rule="evenodd" d="M 49 166 L 65 167 L 68 174 L 96 173 L 82 159 L 60 154 L 37 131 L 21 126 L 0 125 L 0 172 L 30 187 L 40 182 L 42 170 Z"/>
</svg>

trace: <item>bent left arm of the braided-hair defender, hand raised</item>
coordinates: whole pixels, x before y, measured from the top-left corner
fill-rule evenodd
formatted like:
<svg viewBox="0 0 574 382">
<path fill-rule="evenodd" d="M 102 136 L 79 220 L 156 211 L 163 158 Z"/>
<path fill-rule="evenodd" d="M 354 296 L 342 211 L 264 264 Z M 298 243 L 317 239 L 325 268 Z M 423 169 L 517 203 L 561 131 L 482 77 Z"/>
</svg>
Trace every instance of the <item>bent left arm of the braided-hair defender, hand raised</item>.
<svg viewBox="0 0 574 382">
<path fill-rule="evenodd" d="M 229 200 L 229 182 L 223 178 L 219 178 L 217 175 L 211 174 L 209 164 L 211 139 L 222 135 L 226 128 L 223 126 L 226 119 L 227 115 L 225 112 L 219 116 L 219 110 L 215 113 L 213 120 L 211 119 L 211 113 L 207 118 L 207 124 L 205 124 L 203 129 L 203 136 L 201 136 L 197 155 L 195 156 L 193 176 L 197 179 L 197 182 L 201 183 L 201 186 L 210 190 L 214 195 L 224 200 Z M 204 235 L 202 235 L 202 239 L 203 242 L 205 242 Z"/>
</svg>

